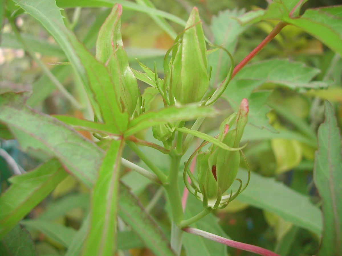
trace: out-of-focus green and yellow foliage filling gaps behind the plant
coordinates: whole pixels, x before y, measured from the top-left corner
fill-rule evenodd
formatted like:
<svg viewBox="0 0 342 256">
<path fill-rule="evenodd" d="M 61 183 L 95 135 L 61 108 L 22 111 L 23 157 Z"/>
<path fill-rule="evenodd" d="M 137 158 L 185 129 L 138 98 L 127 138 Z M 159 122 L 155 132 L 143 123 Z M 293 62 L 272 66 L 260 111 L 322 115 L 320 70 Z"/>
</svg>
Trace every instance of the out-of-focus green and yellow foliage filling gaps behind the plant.
<svg viewBox="0 0 342 256">
<path fill-rule="evenodd" d="M 209 40 L 217 44 L 225 43 L 225 47 L 233 53 L 236 63 L 257 46 L 276 24 L 267 21 L 249 27 L 241 27 L 236 20 L 231 18 L 258 7 L 266 8 L 268 3 L 265 0 L 153 0 L 153 3 L 157 9 L 172 13 L 184 20 L 187 19 L 192 6 L 197 6 Z M 310 0 L 304 4 L 301 12 L 303 13 L 307 8 L 340 3 L 339 0 Z M 82 8 L 67 9 L 63 14 L 69 20 L 68 26 L 74 28 L 78 38 L 90 51 L 94 52 L 97 31 L 109 11 L 107 8 Z M 140 70 L 135 58 L 150 68 L 153 68 L 154 61 L 157 61 L 159 75 L 162 76 L 162 58 L 172 45 L 173 39 L 144 13 L 124 10 L 121 19 L 123 43 L 130 58 L 131 67 Z M 181 26 L 170 24 L 176 31 L 182 30 Z M 35 48 L 38 57 L 44 63 L 49 63 L 47 64 L 49 69 L 69 91 L 81 100 L 82 94 L 78 89 L 78 81 L 75 80 L 70 67 L 63 64 L 64 54 L 53 38 L 28 15 L 18 18 L 17 26 L 25 36 L 26 42 Z M 215 86 L 223 80 L 230 64 L 228 58 L 222 56 L 219 51 L 212 53 L 208 58 L 213 66 L 211 85 Z M 265 103 L 273 109 L 264 106 L 265 109 L 261 110 L 262 113 L 259 116 L 264 119 L 263 114 L 268 112 L 267 117 L 270 123 L 268 129 L 284 131 L 285 135 L 277 137 L 269 135 L 272 133 L 269 133 L 266 128 L 260 130 L 252 126 L 246 127 L 245 140 L 250 141 L 246 148 L 246 157 L 253 172 L 262 176 L 274 177 L 298 193 L 310 196 L 310 200 L 314 204 L 319 204 L 320 199 L 313 184 L 312 175 L 314 151 L 316 150 L 314 131 L 324 119 L 322 103 L 324 99 L 328 99 L 336 107 L 339 125 L 342 125 L 342 60 L 319 40 L 294 26 L 285 27 L 251 63 L 274 58 L 303 62 L 306 67 L 320 70 L 320 72 L 314 72 L 306 83 L 313 79 L 311 83 L 324 81 L 329 84 L 329 87 L 321 88 L 323 86 L 317 85 L 316 87 L 311 86 L 315 89 L 291 88 L 293 86 L 291 82 L 288 82 L 290 86 L 284 86 L 286 81 L 281 83 L 266 81 L 253 88 L 254 92 L 267 92 L 263 96 L 266 100 Z M 269 68 L 272 68 L 272 65 L 266 66 L 266 76 Z M 299 69 L 301 68 L 303 67 L 299 67 Z M 286 77 L 283 78 L 283 80 L 286 79 Z M 1 90 L 32 88 L 34 93 L 28 100 L 28 104 L 39 111 L 47 114 L 70 114 L 84 118 L 80 111 L 74 110 L 60 92 L 54 89 L 47 77 L 42 75 L 37 63 L 24 52 L 21 45 L 15 40 L 10 25 L 7 23 L 4 24 L 1 39 L 0 81 Z M 142 82 L 139 83 L 139 87 L 142 93 L 147 88 Z M 229 99 L 229 89 L 227 90 L 228 93 L 225 94 L 225 97 L 228 102 L 231 102 L 229 101 L 232 100 Z M 243 96 L 244 91 L 240 91 L 240 94 Z M 151 97 L 154 98 L 154 95 Z M 158 108 L 160 104 L 161 99 L 156 97 L 150 108 Z M 232 112 L 224 99 L 215 106 L 223 110 L 223 114 L 208 120 L 201 128 L 202 131 L 210 134 L 216 134 L 223 117 Z M 258 118 L 259 116 L 257 115 Z M 264 124 L 264 121 L 259 119 L 255 122 Z M 298 122 L 309 127 L 313 131 L 313 136 L 303 135 L 301 126 L 296 125 Z M 17 141 L 11 140 L 11 134 L 6 133 L 3 125 L 0 126 L 0 132 L 2 138 L 10 139 L 1 140 L 1 150 L 8 153 L 8 155 L 1 154 L 0 157 L 0 191 L 4 191 L 9 185 L 7 180 L 12 175 L 14 168 L 5 159 L 9 159 L 10 156 L 21 169 L 30 170 L 45 159 L 45 156 L 41 152 L 25 148 L 23 144 L 19 146 Z M 293 133 L 301 134 L 302 137 L 306 136 L 306 139 L 313 143 L 305 143 L 302 137 L 293 136 Z M 92 138 L 88 132 L 82 132 L 82 134 Z M 139 136 L 154 141 L 150 130 L 139 134 Z M 144 151 L 148 150 L 144 148 Z M 155 156 L 153 154 L 156 153 L 152 150 L 149 153 L 155 159 L 157 166 L 162 169 L 166 168 L 168 162 L 166 156 L 160 156 L 160 154 Z M 129 151 L 124 152 L 124 157 L 129 160 L 137 160 Z M 130 170 L 123 170 L 122 180 L 134 189 L 143 204 L 149 205 L 151 199 L 155 199 L 154 203 L 149 205 L 150 212 L 163 228 L 168 229 L 169 223 L 165 212 L 166 200 L 158 187 Z M 295 226 L 272 212 L 253 207 L 243 200 L 240 201 L 239 197 L 227 208 L 215 212 L 222 232 L 225 232 L 233 240 L 259 245 L 269 250 L 275 250 L 281 255 L 313 255 L 317 251 L 319 238 L 315 233 Z M 87 198 L 88 189 L 75 178 L 68 176 L 26 219 L 37 217 L 36 222 L 49 220 L 56 224 L 79 228 L 89 207 Z M 193 199 L 189 198 L 188 200 Z M 54 238 L 53 234 L 39 228 L 37 223 L 30 224 L 28 221 L 23 224 L 30 231 L 39 255 L 62 255 L 65 252 L 63 243 L 58 238 Z M 43 226 L 43 224 L 41 225 Z M 124 225 L 121 223 L 121 226 Z M 120 228 L 122 227 L 119 225 Z M 138 249 L 129 250 L 131 255 L 152 255 L 147 249 L 142 248 L 142 243 L 139 241 L 136 245 Z M 124 245 L 123 249 L 125 249 Z M 250 255 L 233 248 L 228 248 L 228 253 Z M 128 255 L 128 252 L 126 251 L 122 255 Z"/>
</svg>

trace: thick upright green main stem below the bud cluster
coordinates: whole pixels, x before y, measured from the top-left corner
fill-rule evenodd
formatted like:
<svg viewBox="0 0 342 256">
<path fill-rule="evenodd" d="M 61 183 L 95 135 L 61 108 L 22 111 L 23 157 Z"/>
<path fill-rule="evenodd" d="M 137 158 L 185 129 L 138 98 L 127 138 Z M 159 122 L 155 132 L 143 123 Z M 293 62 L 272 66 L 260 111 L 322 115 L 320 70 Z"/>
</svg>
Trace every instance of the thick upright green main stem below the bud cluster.
<svg viewBox="0 0 342 256">
<path fill-rule="evenodd" d="M 178 174 L 179 163 L 181 156 L 175 152 L 171 155 L 171 166 L 168 176 L 168 182 L 164 185 L 166 193 L 169 198 L 171 207 L 172 219 L 171 219 L 171 248 L 176 255 L 180 255 L 182 248 L 182 236 L 183 232 L 179 228 L 180 223 L 183 220 L 183 208 L 181 193 L 178 186 Z"/>
</svg>

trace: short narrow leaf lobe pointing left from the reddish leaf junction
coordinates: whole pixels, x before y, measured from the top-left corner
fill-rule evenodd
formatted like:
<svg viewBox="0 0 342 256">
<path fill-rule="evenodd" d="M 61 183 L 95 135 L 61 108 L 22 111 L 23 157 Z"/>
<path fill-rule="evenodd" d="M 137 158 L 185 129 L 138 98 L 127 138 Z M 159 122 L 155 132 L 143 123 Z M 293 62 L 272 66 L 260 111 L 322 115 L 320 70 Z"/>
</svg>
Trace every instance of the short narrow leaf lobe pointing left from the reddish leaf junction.
<svg viewBox="0 0 342 256">
<path fill-rule="evenodd" d="M 62 121 L 63 123 L 70 125 L 75 129 L 87 130 L 93 132 L 105 132 L 113 134 L 115 129 L 107 124 L 95 123 L 85 119 L 79 119 L 74 116 L 67 115 L 53 115 L 54 118 Z"/>
</svg>

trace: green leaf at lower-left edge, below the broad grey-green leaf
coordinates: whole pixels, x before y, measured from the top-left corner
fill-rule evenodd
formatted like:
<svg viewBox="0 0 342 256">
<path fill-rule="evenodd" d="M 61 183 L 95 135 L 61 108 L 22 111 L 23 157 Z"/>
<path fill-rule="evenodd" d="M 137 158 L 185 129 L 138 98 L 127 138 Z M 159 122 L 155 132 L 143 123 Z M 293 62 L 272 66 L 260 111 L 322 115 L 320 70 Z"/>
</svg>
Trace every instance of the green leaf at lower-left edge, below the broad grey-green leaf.
<svg viewBox="0 0 342 256">
<path fill-rule="evenodd" d="M 0 238 L 10 231 L 67 176 L 52 159 L 37 169 L 10 179 L 12 186 L 0 197 Z"/>
</svg>

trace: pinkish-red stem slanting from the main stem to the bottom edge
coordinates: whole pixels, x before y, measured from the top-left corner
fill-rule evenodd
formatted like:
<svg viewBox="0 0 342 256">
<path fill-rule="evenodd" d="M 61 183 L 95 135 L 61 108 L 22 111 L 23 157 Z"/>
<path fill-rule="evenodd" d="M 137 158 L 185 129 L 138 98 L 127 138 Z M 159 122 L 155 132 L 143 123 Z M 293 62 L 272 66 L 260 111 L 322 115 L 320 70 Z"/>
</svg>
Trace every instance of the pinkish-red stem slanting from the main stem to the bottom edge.
<svg viewBox="0 0 342 256">
<path fill-rule="evenodd" d="M 215 234 L 212 234 L 212 233 L 209 233 L 209 232 L 197 229 L 197 228 L 186 227 L 186 228 L 183 228 L 183 230 L 190 234 L 195 234 L 197 236 L 201 236 L 201 237 L 210 239 L 212 241 L 219 242 L 221 244 L 225 244 L 225 245 L 238 248 L 240 250 L 244 250 L 247 252 L 252 252 L 252 253 L 256 253 L 256 254 L 264 255 L 264 256 L 280 256 L 279 254 L 269 251 L 265 248 L 252 245 L 252 244 L 245 244 L 245 243 L 237 242 L 237 241 L 220 237 L 220 236 L 216 236 Z"/>
</svg>

